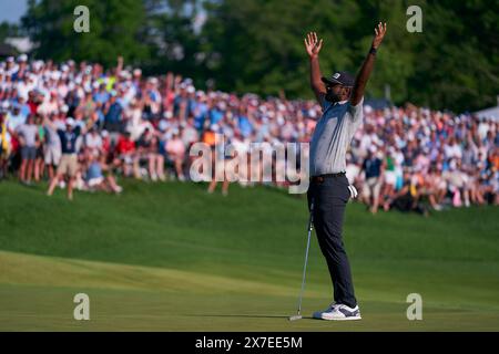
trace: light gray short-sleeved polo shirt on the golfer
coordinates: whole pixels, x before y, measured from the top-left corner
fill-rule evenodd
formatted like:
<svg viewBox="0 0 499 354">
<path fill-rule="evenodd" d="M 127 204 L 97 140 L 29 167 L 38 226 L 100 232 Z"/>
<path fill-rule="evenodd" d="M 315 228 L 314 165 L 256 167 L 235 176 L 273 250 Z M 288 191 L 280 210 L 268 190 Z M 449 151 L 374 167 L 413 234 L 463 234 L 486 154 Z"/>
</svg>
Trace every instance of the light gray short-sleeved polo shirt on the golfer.
<svg viewBox="0 0 499 354">
<path fill-rule="evenodd" d="M 353 106 L 348 101 L 326 102 L 310 140 L 310 176 L 346 170 L 346 152 L 364 121 L 364 97 Z"/>
</svg>

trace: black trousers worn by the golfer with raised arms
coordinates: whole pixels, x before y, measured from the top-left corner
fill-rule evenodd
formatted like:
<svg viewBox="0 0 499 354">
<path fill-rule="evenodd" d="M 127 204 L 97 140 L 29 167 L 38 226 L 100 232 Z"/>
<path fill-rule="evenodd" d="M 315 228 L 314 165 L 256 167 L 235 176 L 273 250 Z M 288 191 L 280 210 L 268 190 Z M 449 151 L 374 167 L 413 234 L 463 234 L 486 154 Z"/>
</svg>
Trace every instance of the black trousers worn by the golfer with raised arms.
<svg viewBox="0 0 499 354">
<path fill-rule="evenodd" d="M 340 175 L 325 177 L 322 181 L 313 180 L 307 197 L 308 209 L 314 202 L 314 228 L 329 269 L 334 301 L 355 308 L 357 300 L 342 237 L 345 209 L 350 198 L 348 179 Z"/>
</svg>

